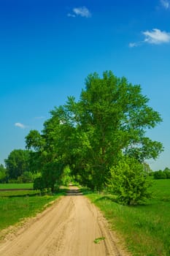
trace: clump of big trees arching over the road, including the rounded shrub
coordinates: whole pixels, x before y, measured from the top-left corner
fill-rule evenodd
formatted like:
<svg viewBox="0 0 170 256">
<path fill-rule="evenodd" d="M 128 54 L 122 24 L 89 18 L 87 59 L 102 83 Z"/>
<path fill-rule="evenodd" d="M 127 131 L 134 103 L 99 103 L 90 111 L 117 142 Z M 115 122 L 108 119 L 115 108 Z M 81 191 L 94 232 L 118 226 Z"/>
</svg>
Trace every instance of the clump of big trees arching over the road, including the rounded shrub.
<svg viewBox="0 0 170 256">
<path fill-rule="evenodd" d="M 42 133 L 31 130 L 26 136 L 30 168 L 42 173 L 37 184 L 53 190 L 69 166 L 80 184 L 98 191 L 107 187 L 121 202 L 147 197 L 143 163 L 163 151 L 161 143 L 146 136 L 161 122 L 148 102 L 139 85 L 112 72 L 103 78 L 89 75 L 78 101 L 68 97 L 50 112 Z"/>
</svg>

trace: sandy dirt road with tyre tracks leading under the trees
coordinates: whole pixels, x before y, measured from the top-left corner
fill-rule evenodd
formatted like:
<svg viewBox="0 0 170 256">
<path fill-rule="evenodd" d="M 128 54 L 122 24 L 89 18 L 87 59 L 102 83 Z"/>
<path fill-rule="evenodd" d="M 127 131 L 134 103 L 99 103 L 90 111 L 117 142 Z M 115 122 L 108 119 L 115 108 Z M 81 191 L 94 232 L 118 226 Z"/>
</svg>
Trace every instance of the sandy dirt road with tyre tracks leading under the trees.
<svg viewBox="0 0 170 256">
<path fill-rule="evenodd" d="M 96 238 L 104 239 L 98 244 Z M 0 245 L 1 256 L 125 256 L 98 209 L 71 187 L 69 194 Z"/>
</svg>

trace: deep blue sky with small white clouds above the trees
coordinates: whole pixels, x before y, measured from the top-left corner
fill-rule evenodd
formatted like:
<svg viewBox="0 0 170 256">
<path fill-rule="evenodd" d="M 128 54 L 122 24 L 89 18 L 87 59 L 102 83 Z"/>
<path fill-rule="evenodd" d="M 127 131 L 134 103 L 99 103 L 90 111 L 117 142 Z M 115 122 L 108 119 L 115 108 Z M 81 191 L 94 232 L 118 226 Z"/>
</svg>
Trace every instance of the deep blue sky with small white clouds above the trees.
<svg viewBox="0 0 170 256">
<path fill-rule="evenodd" d="M 0 163 L 42 130 L 54 106 L 80 96 L 91 72 L 142 86 L 163 122 L 148 135 L 170 167 L 170 0 L 1 0 Z"/>
</svg>

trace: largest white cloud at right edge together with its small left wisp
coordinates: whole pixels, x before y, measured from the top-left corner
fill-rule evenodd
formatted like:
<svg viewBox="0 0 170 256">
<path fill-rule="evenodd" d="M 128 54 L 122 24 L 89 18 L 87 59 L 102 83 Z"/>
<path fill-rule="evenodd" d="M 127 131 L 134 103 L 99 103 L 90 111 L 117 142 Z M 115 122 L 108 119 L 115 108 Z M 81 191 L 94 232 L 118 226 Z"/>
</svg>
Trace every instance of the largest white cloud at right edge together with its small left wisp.
<svg viewBox="0 0 170 256">
<path fill-rule="evenodd" d="M 144 43 L 151 45 L 161 45 L 163 43 L 170 42 L 170 33 L 166 31 L 161 31 L 160 29 L 152 29 L 151 31 L 143 31 L 144 40 L 139 42 L 130 42 L 129 47 L 133 48 Z"/>
</svg>

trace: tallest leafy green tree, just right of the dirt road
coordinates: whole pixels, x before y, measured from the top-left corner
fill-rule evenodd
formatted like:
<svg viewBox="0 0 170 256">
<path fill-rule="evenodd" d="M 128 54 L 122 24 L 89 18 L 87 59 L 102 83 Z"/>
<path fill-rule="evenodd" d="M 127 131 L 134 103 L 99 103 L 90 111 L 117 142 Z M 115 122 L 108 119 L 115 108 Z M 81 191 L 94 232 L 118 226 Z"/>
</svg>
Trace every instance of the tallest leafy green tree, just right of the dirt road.
<svg viewBox="0 0 170 256">
<path fill-rule="evenodd" d="M 89 75 L 80 100 L 69 99 L 66 109 L 78 138 L 75 158 L 81 176 L 98 189 L 123 154 L 144 162 L 161 153 L 162 144 L 146 136 L 147 129 L 161 122 L 160 114 L 148 102 L 139 85 L 133 86 L 112 72 L 104 72 L 103 78 Z"/>
</svg>

